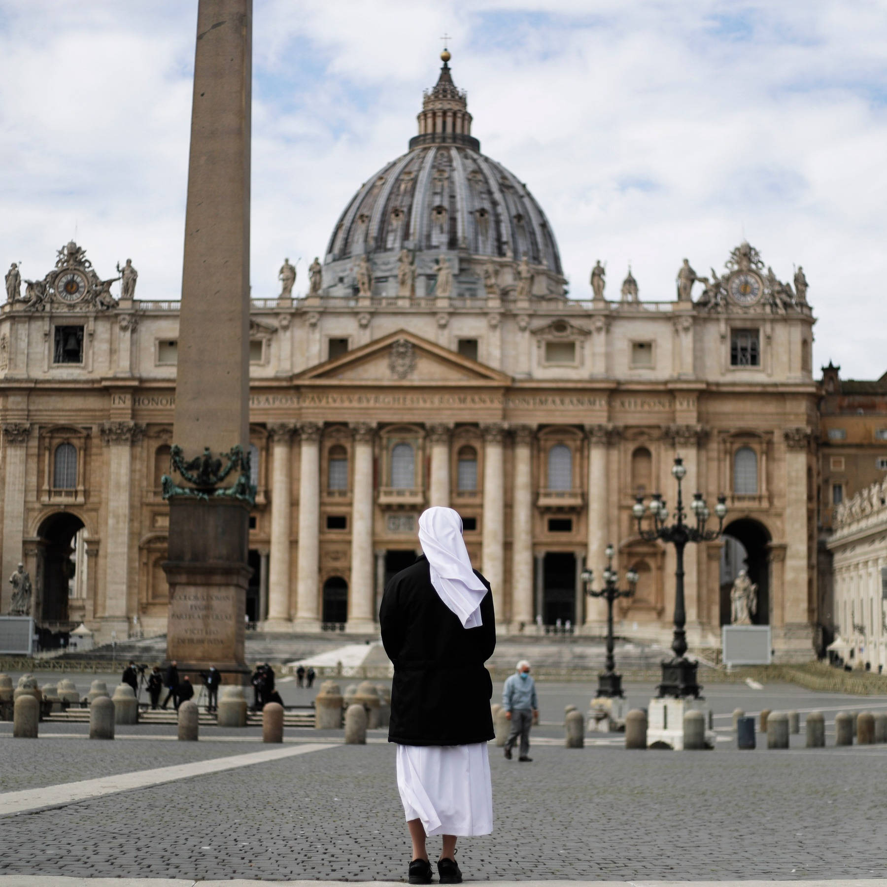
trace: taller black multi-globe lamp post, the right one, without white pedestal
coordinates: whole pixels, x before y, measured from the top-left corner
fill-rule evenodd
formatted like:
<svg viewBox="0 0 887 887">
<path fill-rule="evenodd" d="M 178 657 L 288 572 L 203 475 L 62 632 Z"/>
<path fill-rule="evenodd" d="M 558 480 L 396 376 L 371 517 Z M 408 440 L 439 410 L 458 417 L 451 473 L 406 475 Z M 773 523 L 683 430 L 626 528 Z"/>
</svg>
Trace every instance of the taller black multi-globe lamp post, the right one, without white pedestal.
<svg viewBox="0 0 887 887">
<path fill-rule="evenodd" d="M 671 475 L 678 482 L 678 505 L 675 507 L 675 520 L 666 524 L 668 509 L 665 500 L 660 493 L 655 493 L 649 505 L 644 505 L 643 496 L 638 496 L 632 506 L 632 514 L 638 522 L 640 538 L 652 542 L 662 539 L 663 542 L 671 542 L 675 550 L 674 570 L 674 638 L 671 640 L 671 649 L 674 656 L 663 662 L 663 680 L 657 687 L 659 696 L 692 696 L 699 697 L 702 690 L 696 683 L 696 663 L 690 662 L 686 657 L 687 634 L 684 625 L 687 623 L 687 612 L 684 608 L 684 548 L 688 542 L 711 542 L 717 539 L 724 529 L 726 517 L 726 496 L 718 496 L 718 504 L 715 506 L 715 515 L 718 517 L 718 529 L 706 530 L 705 523 L 710 517 L 709 506 L 705 504 L 702 493 L 695 493 L 690 503 L 690 511 L 695 517 L 695 526 L 685 523 L 687 513 L 684 510 L 684 499 L 680 484 L 687 475 L 684 460 L 679 456 L 675 458 L 671 466 Z M 650 530 L 644 530 L 644 516 L 649 514 L 653 526 Z"/>
</svg>

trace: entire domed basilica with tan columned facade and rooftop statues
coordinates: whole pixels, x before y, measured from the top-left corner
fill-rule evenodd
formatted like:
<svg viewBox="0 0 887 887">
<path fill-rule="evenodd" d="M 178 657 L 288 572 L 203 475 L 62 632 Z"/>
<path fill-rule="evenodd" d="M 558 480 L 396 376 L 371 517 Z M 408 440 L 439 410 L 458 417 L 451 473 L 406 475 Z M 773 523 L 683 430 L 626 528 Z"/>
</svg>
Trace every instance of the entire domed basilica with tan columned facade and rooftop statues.
<svg viewBox="0 0 887 887">
<path fill-rule="evenodd" d="M 593 298 L 568 298 L 545 213 L 481 153 L 448 59 L 419 134 L 345 208 L 309 294 L 293 298 L 287 263 L 282 294 L 253 301 L 250 620 L 375 632 L 421 510 L 450 505 L 501 631 L 600 633 L 579 574 L 600 574 L 612 543 L 640 575 L 618 631 L 667 640 L 673 549 L 640 538 L 632 505 L 661 491 L 673 506 L 679 455 L 687 493 L 726 493 L 729 550 L 777 656 L 810 657 L 819 421 L 803 275 L 781 283 L 743 243 L 710 278 L 685 263 L 673 301 L 639 301 L 631 275 L 608 300 L 599 271 Z M 109 286 L 69 244 L 0 311 L 4 579 L 24 560 L 44 628 L 83 621 L 104 640 L 166 630 L 178 330 L 178 303 L 135 299 L 131 270 L 119 299 Z M 723 559 L 719 542 L 687 549 L 692 647 L 717 648 L 729 619 Z"/>
</svg>

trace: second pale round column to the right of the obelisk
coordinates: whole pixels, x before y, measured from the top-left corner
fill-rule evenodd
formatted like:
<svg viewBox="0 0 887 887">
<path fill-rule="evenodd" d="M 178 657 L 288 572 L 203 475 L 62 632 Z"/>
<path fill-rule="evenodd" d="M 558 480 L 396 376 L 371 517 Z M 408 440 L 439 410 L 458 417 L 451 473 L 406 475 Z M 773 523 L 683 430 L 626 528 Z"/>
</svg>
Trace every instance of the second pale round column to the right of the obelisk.
<svg viewBox="0 0 887 887">
<path fill-rule="evenodd" d="M 318 577 L 320 570 L 320 426 L 300 422 L 299 565 L 294 626 L 300 632 L 319 632 Z"/>
</svg>

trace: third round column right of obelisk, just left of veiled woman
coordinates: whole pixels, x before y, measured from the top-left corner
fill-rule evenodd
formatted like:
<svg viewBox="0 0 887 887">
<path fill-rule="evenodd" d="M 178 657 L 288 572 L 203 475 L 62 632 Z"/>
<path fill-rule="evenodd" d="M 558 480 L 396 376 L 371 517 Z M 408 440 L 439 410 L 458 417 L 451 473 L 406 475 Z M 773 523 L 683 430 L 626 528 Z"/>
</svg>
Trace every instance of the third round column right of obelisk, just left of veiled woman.
<svg viewBox="0 0 887 887">
<path fill-rule="evenodd" d="M 354 431 L 354 489 L 351 506 L 351 587 L 348 596 L 348 632 L 375 632 L 373 599 L 373 436 L 369 422 L 356 422 Z"/>
</svg>

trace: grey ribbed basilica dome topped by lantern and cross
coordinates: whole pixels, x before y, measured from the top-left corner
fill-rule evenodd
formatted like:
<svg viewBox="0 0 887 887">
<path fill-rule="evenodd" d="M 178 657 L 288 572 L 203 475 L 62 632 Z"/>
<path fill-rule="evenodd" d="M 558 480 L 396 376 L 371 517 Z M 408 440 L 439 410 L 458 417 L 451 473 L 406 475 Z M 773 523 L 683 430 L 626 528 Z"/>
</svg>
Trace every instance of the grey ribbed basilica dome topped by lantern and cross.
<svg viewBox="0 0 887 887">
<path fill-rule="evenodd" d="M 398 257 L 406 250 L 415 295 L 433 292 L 441 256 L 455 276 L 453 295 L 483 294 L 484 269 L 489 280 L 490 266 L 505 284 L 501 294 L 511 294 L 508 283 L 517 275 L 505 266 L 524 258 L 533 273 L 533 294 L 562 295 L 561 256 L 545 213 L 514 173 L 481 153 L 471 135 L 466 93 L 452 81 L 450 53 L 443 51 L 441 58 L 409 150 L 367 179 L 335 225 L 324 262 L 326 294 L 357 293 L 362 256 L 373 294 L 396 294 Z"/>
</svg>

